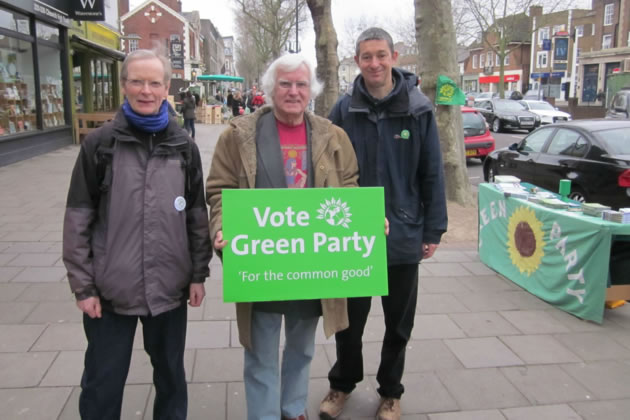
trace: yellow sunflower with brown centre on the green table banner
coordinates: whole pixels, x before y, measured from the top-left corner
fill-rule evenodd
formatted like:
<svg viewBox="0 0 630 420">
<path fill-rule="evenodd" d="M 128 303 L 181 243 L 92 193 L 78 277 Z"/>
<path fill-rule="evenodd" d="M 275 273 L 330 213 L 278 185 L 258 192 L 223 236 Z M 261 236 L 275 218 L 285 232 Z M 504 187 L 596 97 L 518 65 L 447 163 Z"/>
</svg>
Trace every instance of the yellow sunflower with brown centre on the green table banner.
<svg viewBox="0 0 630 420">
<path fill-rule="evenodd" d="M 508 222 L 508 253 L 512 264 L 528 276 L 538 269 L 545 255 L 543 224 L 536 218 L 536 212 L 519 207 Z"/>
</svg>

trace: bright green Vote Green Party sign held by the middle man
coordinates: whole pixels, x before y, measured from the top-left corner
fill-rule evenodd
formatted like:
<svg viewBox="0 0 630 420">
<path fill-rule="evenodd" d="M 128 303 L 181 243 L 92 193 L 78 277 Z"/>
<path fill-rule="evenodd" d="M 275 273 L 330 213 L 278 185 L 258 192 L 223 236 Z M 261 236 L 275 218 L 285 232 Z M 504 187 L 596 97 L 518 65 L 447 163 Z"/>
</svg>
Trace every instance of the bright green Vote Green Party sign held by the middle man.
<svg viewBox="0 0 630 420">
<path fill-rule="evenodd" d="M 225 302 L 387 294 L 383 188 L 222 196 Z"/>
</svg>

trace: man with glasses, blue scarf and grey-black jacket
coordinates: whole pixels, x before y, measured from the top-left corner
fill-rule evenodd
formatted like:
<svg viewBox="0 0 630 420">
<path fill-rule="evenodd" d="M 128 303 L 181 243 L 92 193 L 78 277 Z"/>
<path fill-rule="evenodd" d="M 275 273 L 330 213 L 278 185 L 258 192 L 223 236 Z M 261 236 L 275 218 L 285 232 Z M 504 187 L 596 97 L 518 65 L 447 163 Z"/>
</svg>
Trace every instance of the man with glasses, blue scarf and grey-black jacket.
<svg viewBox="0 0 630 420">
<path fill-rule="evenodd" d="M 120 418 L 138 319 L 154 368 L 154 419 L 185 419 L 186 305 L 200 306 L 211 246 L 194 142 L 169 119 L 167 59 L 127 56 L 125 102 L 90 133 L 72 173 L 63 260 L 87 337 L 82 419 Z"/>
</svg>

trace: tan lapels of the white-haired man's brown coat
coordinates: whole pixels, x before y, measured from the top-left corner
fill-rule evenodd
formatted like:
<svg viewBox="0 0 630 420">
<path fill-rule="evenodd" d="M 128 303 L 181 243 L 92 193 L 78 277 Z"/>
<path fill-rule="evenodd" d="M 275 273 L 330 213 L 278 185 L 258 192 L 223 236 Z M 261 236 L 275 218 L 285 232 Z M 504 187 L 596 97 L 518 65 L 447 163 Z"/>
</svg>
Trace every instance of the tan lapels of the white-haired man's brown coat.
<svg viewBox="0 0 630 420">
<path fill-rule="evenodd" d="M 247 166 L 250 168 L 256 168 L 256 124 L 261 116 L 272 111 L 273 108 L 270 105 L 265 105 L 253 114 L 234 118 L 230 123 L 235 131 L 236 140 L 244 151 L 244 158 L 248 160 Z M 305 112 L 304 118 L 308 121 L 307 126 L 311 127 L 313 162 L 317 162 L 333 137 L 332 123 L 310 112 Z"/>
</svg>

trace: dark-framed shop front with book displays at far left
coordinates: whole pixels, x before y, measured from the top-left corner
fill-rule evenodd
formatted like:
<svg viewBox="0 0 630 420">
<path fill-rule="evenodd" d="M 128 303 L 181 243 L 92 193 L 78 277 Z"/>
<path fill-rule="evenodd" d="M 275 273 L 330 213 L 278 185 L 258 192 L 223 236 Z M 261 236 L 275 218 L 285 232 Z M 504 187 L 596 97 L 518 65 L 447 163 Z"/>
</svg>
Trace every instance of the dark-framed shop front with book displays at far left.
<svg viewBox="0 0 630 420">
<path fill-rule="evenodd" d="M 72 143 L 69 25 L 42 1 L 0 0 L 0 166 Z"/>
</svg>

